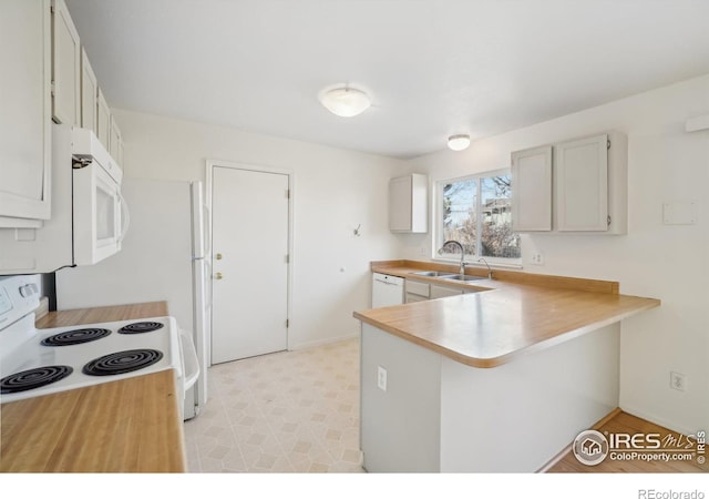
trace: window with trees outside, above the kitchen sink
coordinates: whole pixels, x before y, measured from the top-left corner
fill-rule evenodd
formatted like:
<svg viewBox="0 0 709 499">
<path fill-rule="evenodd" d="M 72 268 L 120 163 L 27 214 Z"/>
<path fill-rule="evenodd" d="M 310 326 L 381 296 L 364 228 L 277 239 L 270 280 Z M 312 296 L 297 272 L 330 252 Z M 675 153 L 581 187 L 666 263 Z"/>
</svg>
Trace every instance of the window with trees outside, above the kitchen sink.
<svg viewBox="0 0 709 499">
<path fill-rule="evenodd" d="M 513 263 L 521 257 L 520 235 L 512 232 L 510 172 L 493 172 L 436 183 L 436 249 L 458 241 L 466 255 Z M 460 255 L 448 245 L 441 255 Z M 516 262 L 514 262 L 516 263 Z"/>
</svg>

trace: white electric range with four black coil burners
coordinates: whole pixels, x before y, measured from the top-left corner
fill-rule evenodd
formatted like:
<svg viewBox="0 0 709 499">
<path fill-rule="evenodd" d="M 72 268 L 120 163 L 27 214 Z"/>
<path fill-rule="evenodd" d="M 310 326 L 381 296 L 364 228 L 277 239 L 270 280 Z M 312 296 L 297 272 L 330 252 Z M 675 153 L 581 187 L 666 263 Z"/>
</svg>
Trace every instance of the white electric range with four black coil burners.
<svg viewBox="0 0 709 499">
<path fill-rule="evenodd" d="M 0 404 L 165 369 L 184 399 L 196 379 L 173 317 L 37 329 L 39 302 L 39 275 L 0 277 Z"/>
</svg>

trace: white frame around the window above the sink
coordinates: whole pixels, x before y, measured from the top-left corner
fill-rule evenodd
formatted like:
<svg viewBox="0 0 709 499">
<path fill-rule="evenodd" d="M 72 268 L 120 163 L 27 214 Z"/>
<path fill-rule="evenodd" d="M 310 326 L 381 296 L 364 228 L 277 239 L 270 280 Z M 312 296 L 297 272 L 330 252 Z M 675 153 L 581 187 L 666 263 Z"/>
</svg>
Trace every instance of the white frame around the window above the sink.
<svg viewBox="0 0 709 499">
<path fill-rule="evenodd" d="M 441 263 L 454 263 L 454 264 L 460 264 L 460 256 L 458 255 L 452 255 L 452 256 L 446 256 L 446 255 L 440 255 L 438 253 L 438 251 L 441 248 L 441 246 L 443 245 L 443 186 L 445 184 L 451 184 L 451 183 L 455 183 L 455 182 L 464 182 L 464 181 L 469 181 L 469 180 L 475 180 L 475 189 L 476 189 L 476 205 L 475 205 L 475 210 L 477 210 L 477 213 L 482 213 L 482 207 L 483 207 L 483 200 L 482 200 L 482 195 L 481 195 L 481 180 L 482 179 L 487 179 L 487 177 L 492 177 L 492 176 L 500 176 L 500 175 L 508 175 L 512 176 L 512 169 L 497 169 L 497 170 L 490 170 L 490 171 L 485 171 L 485 172 L 480 172 L 480 173 L 473 173 L 470 175 L 462 175 L 462 176 L 456 176 L 456 177 L 445 177 L 445 179 L 439 179 L 433 181 L 433 196 L 432 196 L 432 228 L 433 228 L 433 234 L 432 234 L 432 247 L 431 247 L 431 254 L 432 254 L 432 259 L 435 262 L 441 262 Z M 512 200 L 512 197 L 510 197 Z M 480 230 L 482 228 L 482 224 L 483 224 L 483 217 L 482 216 L 477 216 L 477 228 L 479 228 L 479 234 L 482 233 Z M 522 234 L 517 234 L 520 237 L 522 237 Z M 476 253 L 477 255 L 481 253 L 482 249 L 482 245 L 481 245 L 481 240 L 477 238 L 475 242 L 475 246 L 476 246 Z M 470 265 L 482 265 L 484 266 L 483 263 L 479 263 L 477 258 L 485 258 L 485 261 L 490 264 L 490 265 L 494 265 L 496 267 L 513 267 L 513 268 L 522 268 L 522 240 L 520 240 L 520 257 L 517 258 L 505 258 L 505 257 L 501 257 L 501 256 L 477 256 L 477 255 L 471 255 L 471 254 L 466 254 L 466 264 Z M 475 259 L 473 259 L 472 262 L 469 262 L 467 258 L 470 258 L 471 256 L 474 256 Z"/>
</svg>

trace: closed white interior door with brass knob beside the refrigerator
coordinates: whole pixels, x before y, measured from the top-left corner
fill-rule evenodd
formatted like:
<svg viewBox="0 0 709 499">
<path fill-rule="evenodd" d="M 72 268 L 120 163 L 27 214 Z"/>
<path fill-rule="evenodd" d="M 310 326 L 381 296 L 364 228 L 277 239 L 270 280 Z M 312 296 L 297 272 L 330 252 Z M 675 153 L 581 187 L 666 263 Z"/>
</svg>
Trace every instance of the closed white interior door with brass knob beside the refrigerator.
<svg viewBox="0 0 709 499">
<path fill-rule="evenodd" d="M 287 349 L 289 176 L 214 166 L 212 364 Z"/>
</svg>

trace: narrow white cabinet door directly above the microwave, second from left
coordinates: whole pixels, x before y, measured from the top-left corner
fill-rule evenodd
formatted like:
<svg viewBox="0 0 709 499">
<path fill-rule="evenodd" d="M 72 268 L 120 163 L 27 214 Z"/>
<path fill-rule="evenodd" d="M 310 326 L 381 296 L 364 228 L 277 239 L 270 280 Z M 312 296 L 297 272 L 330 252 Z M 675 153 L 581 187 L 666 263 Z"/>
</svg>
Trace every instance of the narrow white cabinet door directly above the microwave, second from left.
<svg viewBox="0 0 709 499">
<path fill-rule="evenodd" d="M 52 1 L 52 115 L 58 123 L 81 123 L 81 45 L 64 0 Z"/>
</svg>

